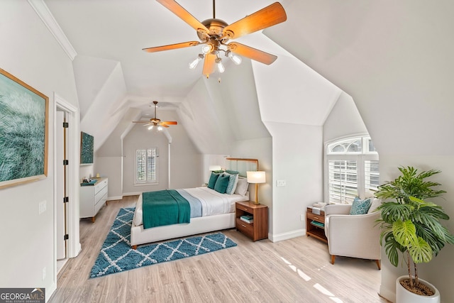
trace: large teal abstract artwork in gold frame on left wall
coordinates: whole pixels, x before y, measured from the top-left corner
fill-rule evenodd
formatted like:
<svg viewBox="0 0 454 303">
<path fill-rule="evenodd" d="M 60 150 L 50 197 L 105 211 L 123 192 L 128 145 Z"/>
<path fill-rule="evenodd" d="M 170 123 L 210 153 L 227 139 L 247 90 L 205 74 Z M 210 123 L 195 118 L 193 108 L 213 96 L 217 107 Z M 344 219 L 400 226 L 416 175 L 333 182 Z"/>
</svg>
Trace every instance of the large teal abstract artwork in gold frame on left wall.
<svg viewBox="0 0 454 303">
<path fill-rule="evenodd" d="M 48 175 L 49 98 L 0 69 L 0 188 Z"/>
</svg>

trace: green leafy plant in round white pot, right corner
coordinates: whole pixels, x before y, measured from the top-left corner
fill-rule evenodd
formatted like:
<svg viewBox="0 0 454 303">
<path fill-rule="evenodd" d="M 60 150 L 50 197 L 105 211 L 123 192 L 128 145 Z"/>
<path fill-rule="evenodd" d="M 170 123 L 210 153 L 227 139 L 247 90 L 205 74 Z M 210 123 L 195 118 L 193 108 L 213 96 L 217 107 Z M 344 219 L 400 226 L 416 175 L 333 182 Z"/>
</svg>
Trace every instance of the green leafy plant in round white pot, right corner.
<svg viewBox="0 0 454 303">
<path fill-rule="evenodd" d="M 419 279 L 417 268 L 417 264 L 428 263 L 434 255 L 438 255 L 446 243 L 454 243 L 453 234 L 440 221 L 448 220 L 449 216 L 441 206 L 427 201 L 445 193 L 444 190 L 433 189 L 441 184 L 426 180 L 440 171 L 418 172 L 414 167 L 399 167 L 399 170 L 402 175 L 394 181 L 380 185 L 375 192 L 375 197 L 383 201 L 377 207 L 381 214 L 377 220 L 382 230 L 380 244 L 384 243 L 385 252 L 392 265 L 397 267 L 399 255 L 402 254 L 408 268 L 408 277 L 399 277 L 397 280 L 397 302 L 405 302 L 399 293 L 402 288 L 399 285 L 411 293 L 410 297 L 423 299 L 423 296 L 426 296 L 431 298 L 428 302 L 440 302 L 438 290 Z M 437 294 L 438 300 L 433 300 Z M 415 297 L 410 300 L 419 302 Z"/>
</svg>

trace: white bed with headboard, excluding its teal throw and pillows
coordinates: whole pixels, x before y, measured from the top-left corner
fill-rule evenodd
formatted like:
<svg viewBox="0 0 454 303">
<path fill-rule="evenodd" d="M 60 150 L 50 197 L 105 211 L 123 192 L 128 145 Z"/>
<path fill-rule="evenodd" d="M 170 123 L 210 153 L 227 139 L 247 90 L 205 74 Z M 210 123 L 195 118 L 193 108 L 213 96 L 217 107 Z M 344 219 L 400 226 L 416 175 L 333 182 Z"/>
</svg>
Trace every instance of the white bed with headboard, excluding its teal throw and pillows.
<svg viewBox="0 0 454 303">
<path fill-rule="evenodd" d="M 256 159 L 226 158 L 226 171 L 238 172 L 238 187 L 233 193 L 221 194 L 209 187 L 177 189 L 182 197 L 194 197 L 201 204 L 200 216 L 199 214 L 194 215 L 194 212 L 197 211 L 194 211 L 193 204 L 191 204 L 189 223 L 144 228 L 144 194 L 145 199 L 149 198 L 147 198 L 148 193 L 140 194 L 131 224 L 131 247 L 135 249 L 140 244 L 234 228 L 235 203 L 249 200 L 248 183 L 245 179 L 246 171 L 255 170 L 258 170 L 258 160 Z M 243 184 L 242 187 L 240 187 L 240 182 Z M 244 186 L 245 190 L 243 190 Z"/>
</svg>

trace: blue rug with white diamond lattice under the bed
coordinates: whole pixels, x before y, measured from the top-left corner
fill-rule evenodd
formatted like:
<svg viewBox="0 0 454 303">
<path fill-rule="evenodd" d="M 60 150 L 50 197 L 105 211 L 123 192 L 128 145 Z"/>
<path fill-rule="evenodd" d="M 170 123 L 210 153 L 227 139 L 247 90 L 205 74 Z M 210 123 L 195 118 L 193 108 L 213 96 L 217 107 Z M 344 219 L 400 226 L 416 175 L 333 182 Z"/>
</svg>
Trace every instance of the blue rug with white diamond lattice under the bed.
<svg viewBox="0 0 454 303">
<path fill-rule="evenodd" d="M 118 211 L 94 262 L 90 278 L 236 246 L 236 243 L 223 233 L 212 233 L 132 249 L 130 239 L 134 209 L 132 207 Z"/>
</svg>

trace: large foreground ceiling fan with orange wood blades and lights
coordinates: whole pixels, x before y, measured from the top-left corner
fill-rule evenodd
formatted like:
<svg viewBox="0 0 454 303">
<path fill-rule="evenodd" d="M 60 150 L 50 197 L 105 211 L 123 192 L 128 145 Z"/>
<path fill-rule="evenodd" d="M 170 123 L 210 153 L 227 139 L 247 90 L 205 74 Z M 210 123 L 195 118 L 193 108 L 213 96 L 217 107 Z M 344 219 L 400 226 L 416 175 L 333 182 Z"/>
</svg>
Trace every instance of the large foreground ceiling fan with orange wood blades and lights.
<svg viewBox="0 0 454 303">
<path fill-rule="evenodd" d="M 240 38 L 243 35 L 260 31 L 264 28 L 274 26 L 278 23 L 287 20 L 287 14 L 279 2 L 275 2 L 266 6 L 255 13 L 245 16 L 230 25 L 221 19 L 216 19 L 215 15 L 215 0 L 213 0 L 213 18 L 206 19 L 205 21 L 198 21 L 194 16 L 180 6 L 174 0 L 156 0 L 167 9 L 175 13 L 179 18 L 192 26 L 197 31 L 200 41 L 189 41 L 177 44 L 162 45 L 153 48 L 143 48 L 145 52 L 155 53 L 162 50 L 174 50 L 177 48 L 187 48 L 189 46 L 203 45 L 202 54 L 192 62 L 189 67 L 194 68 L 197 63 L 204 60 L 203 75 L 209 77 L 218 67 L 219 72 L 223 72 L 222 59 L 219 57 L 221 51 L 224 52 L 226 57 L 230 57 L 233 62 L 239 64 L 240 57 L 234 55 L 238 54 L 249 59 L 270 65 L 275 62 L 277 56 L 265 53 L 262 50 L 251 48 L 250 46 L 243 45 L 238 42 L 227 43 L 230 39 Z M 225 50 L 223 48 L 226 48 Z M 233 54 L 234 53 L 234 54 Z"/>
</svg>

